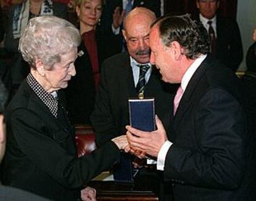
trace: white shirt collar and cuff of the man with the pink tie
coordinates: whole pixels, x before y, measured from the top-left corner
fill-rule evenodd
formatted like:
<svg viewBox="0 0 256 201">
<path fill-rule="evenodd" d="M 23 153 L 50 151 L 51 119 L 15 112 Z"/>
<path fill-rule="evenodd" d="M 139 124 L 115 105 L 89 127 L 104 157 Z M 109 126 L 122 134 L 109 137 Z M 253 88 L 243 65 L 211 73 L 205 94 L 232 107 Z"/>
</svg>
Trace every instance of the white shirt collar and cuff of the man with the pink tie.
<svg viewBox="0 0 256 201">
<path fill-rule="evenodd" d="M 187 84 L 189 84 L 189 81 L 192 78 L 192 76 L 194 75 L 195 71 L 202 64 L 203 60 L 205 60 L 206 57 L 207 57 L 207 55 L 200 55 L 200 57 L 195 59 L 195 61 L 187 69 L 186 73 L 184 74 L 184 76 L 182 77 L 182 80 L 181 80 L 181 88 L 183 89 L 184 92 L 187 88 Z M 173 145 L 173 143 L 170 141 L 164 142 L 164 144 L 161 147 L 160 152 L 158 153 L 158 156 L 157 156 L 157 163 L 156 163 L 157 170 L 164 170 L 165 158 L 168 153 L 168 150 L 170 149 L 170 147 L 172 145 Z"/>
</svg>

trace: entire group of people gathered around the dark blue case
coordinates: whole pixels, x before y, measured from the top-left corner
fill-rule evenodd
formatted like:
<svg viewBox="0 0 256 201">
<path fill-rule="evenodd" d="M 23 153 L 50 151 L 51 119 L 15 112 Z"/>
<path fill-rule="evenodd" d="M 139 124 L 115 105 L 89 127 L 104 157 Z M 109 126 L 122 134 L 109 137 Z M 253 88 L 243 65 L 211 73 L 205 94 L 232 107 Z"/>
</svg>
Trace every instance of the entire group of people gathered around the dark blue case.
<svg viewBox="0 0 256 201">
<path fill-rule="evenodd" d="M 94 201 L 88 181 L 124 160 L 143 174 L 145 158 L 160 200 L 254 200 L 256 30 L 239 79 L 220 0 L 196 0 L 195 18 L 160 17 L 160 2 L 75 0 L 70 20 L 67 4 L 27 0 L 0 20 L 0 200 Z M 155 99 L 155 131 L 129 125 L 138 96 Z M 98 147 L 82 157 L 77 124 Z"/>
</svg>

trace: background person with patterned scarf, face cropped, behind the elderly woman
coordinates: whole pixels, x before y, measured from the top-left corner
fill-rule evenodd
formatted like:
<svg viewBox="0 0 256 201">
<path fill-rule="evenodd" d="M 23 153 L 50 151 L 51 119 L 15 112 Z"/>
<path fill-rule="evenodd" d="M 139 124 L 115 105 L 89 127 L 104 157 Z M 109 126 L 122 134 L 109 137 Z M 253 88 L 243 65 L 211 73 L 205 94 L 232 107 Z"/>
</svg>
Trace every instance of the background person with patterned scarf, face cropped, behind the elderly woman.
<svg viewBox="0 0 256 201">
<path fill-rule="evenodd" d="M 10 66 L 12 88 L 17 89 L 29 72 L 28 64 L 18 51 L 19 38 L 30 18 L 41 15 L 55 15 L 67 18 L 67 6 L 52 0 L 25 0 L 11 6 L 8 11 L 8 22 L 4 48 L 11 58 Z"/>
</svg>

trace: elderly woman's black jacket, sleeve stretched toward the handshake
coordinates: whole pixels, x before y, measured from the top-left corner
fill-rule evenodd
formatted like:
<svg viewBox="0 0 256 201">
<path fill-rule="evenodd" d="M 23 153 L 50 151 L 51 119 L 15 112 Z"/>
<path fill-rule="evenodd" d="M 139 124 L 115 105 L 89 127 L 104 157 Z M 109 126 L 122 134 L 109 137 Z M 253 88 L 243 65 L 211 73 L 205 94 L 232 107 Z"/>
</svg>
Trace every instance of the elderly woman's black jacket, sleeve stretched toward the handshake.
<svg viewBox="0 0 256 201">
<path fill-rule="evenodd" d="M 74 130 L 59 91 L 55 118 L 24 81 L 7 107 L 7 149 L 2 183 L 53 200 L 77 200 L 80 189 L 119 158 L 111 141 L 77 158 Z M 106 154 L 108 153 L 108 154 Z"/>
</svg>

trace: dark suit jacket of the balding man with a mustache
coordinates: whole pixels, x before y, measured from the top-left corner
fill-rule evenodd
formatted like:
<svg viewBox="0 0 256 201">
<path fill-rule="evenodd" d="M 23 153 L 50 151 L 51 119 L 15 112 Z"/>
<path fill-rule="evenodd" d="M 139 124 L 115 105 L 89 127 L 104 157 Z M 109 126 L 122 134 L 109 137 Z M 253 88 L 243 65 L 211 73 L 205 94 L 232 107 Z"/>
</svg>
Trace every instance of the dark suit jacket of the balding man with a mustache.
<svg viewBox="0 0 256 201">
<path fill-rule="evenodd" d="M 153 68 L 144 95 L 155 97 L 156 115 L 163 120 L 166 128 L 173 107 L 173 94 L 168 91 L 168 87 L 160 80 L 156 68 Z M 101 70 L 100 88 L 91 117 L 98 144 L 126 133 L 125 126 L 129 125 L 129 97 L 137 97 L 137 94 L 129 54 L 122 52 L 106 59 Z"/>
</svg>

